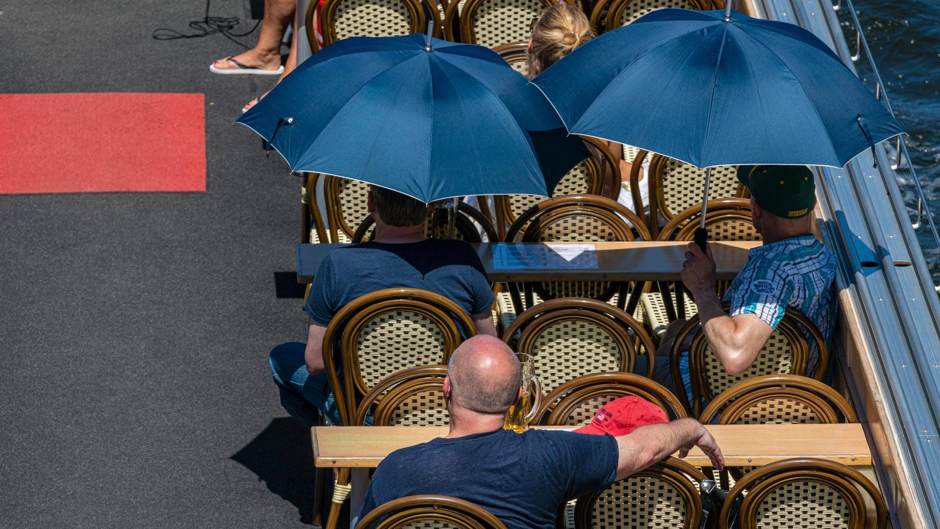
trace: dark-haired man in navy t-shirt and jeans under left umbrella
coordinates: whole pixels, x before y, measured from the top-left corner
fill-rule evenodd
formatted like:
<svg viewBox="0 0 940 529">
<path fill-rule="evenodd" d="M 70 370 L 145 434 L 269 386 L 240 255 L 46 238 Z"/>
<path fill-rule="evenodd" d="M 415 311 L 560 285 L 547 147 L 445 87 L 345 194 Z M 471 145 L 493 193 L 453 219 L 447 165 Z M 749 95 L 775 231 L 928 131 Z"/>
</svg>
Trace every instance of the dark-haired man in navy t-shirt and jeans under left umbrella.
<svg viewBox="0 0 940 529">
<path fill-rule="evenodd" d="M 478 334 L 495 336 L 493 289 L 473 247 L 462 241 L 424 236 L 428 205 L 396 191 L 372 186 L 368 211 L 375 236 L 368 243 L 326 255 L 306 298 L 310 316 L 306 344 L 274 347 L 269 357 L 281 405 L 307 426 L 322 412 L 339 423 L 323 366 L 323 334 L 333 316 L 357 297 L 384 288 L 419 288 L 447 297 L 470 314 Z"/>
</svg>

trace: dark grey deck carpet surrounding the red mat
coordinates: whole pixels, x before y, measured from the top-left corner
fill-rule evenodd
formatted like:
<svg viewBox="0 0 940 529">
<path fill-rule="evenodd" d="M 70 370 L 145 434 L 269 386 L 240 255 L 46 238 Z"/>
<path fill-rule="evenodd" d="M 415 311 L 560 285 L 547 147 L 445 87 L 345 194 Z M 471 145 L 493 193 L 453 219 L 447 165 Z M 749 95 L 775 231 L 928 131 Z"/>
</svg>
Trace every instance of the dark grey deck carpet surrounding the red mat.
<svg viewBox="0 0 940 529">
<path fill-rule="evenodd" d="M 305 337 L 275 281 L 299 181 L 231 124 L 274 77 L 209 72 L 239 52 L 219 35 L 150 38 L 201 1 L 0 9 L 0 93 L 204 93 L 208 156 L 207 193 L 0 196 L 0 527 L 305 525 L 309 438 L 267 366 Z M 247 0 L 211 9 L 248 19 Z"/>
</svg>

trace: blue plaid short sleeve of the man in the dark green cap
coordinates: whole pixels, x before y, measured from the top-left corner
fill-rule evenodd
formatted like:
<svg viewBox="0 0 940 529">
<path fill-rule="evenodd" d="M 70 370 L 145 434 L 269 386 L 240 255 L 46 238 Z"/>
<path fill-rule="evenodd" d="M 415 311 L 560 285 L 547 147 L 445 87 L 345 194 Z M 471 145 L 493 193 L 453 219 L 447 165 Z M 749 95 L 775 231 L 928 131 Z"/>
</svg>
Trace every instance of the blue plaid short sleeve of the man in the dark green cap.
<svg viewBox="0 0 940 529">
<path fill-rule="evenodd" d="M 776 259 L 749 261 L 725 294 L 729 314 L 757 314 L 772 329 L 780 324 L 793 296 L 785 264 Z"/>
</svg>

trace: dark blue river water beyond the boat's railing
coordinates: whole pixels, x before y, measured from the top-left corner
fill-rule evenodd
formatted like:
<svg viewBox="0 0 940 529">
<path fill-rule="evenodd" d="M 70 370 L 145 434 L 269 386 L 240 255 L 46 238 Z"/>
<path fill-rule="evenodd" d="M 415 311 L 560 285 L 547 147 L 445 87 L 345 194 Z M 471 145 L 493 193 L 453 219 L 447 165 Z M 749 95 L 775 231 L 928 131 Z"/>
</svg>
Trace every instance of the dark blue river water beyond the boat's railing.
<svg viewBox="0 0 940 529">
<path fill-rule="evenodd" d="M 928 204 L 940 222 L 940 0 L 853 0 L 895 115 L 908 136 L 907 148 Z M 844 11 L 844 9 L 843 9 Z M 848 12 L 839 21 L 854 50 L 854 22 Z M 864 58 L 856 63 L 873 90 L 874 79 Z M 894 150 L 890 142 L 889 152 Z M 906 163 L 898 182 L 911 217 L 916 217 L 917 190 Z M 934 282 L 940 280 L 940 253 L 926 219 L 917 230 Z"/>
</svg>

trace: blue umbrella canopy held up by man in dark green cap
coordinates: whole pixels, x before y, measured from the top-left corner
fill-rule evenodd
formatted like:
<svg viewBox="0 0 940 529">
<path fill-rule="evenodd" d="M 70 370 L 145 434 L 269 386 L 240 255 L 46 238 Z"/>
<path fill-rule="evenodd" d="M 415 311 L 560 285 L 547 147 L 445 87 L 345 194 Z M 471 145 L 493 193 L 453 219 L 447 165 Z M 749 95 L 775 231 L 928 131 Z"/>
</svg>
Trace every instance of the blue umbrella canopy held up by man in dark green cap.
<svg viewBox="0 0 940 529">
<path fill-rule="evenodd" d="M 840 168 L 903 132 L 822 40 L 737 11 L 652 11 L 532 83 L 572 134 L 697 168 Z"/>
</svg>

